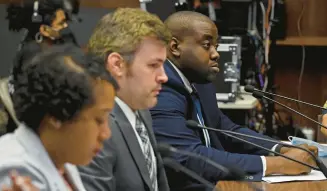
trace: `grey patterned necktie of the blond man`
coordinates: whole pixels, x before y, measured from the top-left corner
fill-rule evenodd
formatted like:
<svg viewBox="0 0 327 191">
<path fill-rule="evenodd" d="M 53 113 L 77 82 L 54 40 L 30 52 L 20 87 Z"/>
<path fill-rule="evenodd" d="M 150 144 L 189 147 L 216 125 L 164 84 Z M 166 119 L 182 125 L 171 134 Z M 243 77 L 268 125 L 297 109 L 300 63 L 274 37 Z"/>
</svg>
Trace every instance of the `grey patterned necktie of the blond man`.
<svg viewBox="0 0 327 191">
<path fill-rule="evenodd" d="M 158 191 L 158 182 L 157 182 L 157 164 L 156 161 L 152 160 L 152 146 L 149 139 L 148 131 L 146 130 L 145 126 L 143 125 L 139 114 L 136 114 L 136 125 L 135 129 L 139 134 L 142 140 L 142 151 L 145 157 L 145 162 L 149 170 L 151 186 L 154 191 Z"/>
</svg>

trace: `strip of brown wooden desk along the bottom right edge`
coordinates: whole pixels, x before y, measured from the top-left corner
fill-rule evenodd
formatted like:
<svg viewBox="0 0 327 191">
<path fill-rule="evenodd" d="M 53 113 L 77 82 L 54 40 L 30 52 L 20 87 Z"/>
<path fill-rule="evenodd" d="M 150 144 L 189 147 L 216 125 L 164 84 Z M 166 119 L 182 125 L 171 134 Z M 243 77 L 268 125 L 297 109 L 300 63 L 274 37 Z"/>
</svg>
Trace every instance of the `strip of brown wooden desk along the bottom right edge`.
<svg viewBox="0 0 327 191">
<path fill-rule="evenodd" d="M 217 188 L 220 191 L 255 191 L 248 183 L 249 182 L 220 181 L 217 184 Z M 253 182 L 252 184 L 264 191 L 327 191 L 327 180 L 275 184 Z"/>
</svg>

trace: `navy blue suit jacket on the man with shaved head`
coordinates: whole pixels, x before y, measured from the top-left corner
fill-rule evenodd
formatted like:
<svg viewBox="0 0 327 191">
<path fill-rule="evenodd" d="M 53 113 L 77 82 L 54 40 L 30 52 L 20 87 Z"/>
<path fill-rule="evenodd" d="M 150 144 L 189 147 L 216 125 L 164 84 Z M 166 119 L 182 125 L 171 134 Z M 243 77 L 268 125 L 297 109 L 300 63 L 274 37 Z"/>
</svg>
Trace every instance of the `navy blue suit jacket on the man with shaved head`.
<svg viewBox="0 0 327 191">
<path fill-rule="evenodd" d="M 190 94 L 182 79 L 169 62 L 165 63 L 165 71 L 168 82 L 159 94 L 158 104 L 150 110 L 157 142 L 168 143 L 178 149 L 198 153 L 225 166 L 239 167 L 251 175 L 249 179 L 261 180 L 263 165 L 259 155 L 267 155 L 268 153 L 213 131 L 209 131 L 211 147 L 207 148 L 204 144 L 202 131 L 192 130 L 185 125 L 186 120 L 197 121 L 197 118 Z M 213 84 L 195 84 L 195 88 L 199 95 L 206 126 L 264 137 L 246 127 L 233 123 L 219 110 Z M 274 144 L 264 141 L 248 140 L 269 149 L 274 146 Z M 222 171 L 213 168 L 202 160 L 184 154 L 176 154 L 173 157 L 213 183 L 226 176 Z M 202 185 L 169 169 L 167 170 L 167 177 L 172 190 L 203 189 Z"/>
</svg>

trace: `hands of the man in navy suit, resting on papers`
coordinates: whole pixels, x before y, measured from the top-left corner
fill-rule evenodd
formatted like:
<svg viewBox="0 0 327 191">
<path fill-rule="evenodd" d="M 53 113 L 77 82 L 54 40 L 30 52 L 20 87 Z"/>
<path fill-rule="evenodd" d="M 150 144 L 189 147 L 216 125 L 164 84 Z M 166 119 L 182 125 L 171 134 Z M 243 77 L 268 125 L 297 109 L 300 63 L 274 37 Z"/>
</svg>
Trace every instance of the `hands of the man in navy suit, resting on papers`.
<svg viewBox="0 0 327 191">
<path fill-rule="evenodd" d="M 311 150 L 315 153 L 318 153 L 316 147 L 309 147 L 308 145 L 299 145 L 299 146 L 307 150 Z M 285 156 L 301 161 L 303 163 L 316 166 L 313 157 L 309 153 L 303 150 L 292 148 L 292 149 L 284 150 L 283 154 Z M 266 161 L 267 161 L 266 175 L 271 175 L 271 174 L 299 175 L 299 174 L 305 174 L 311 172 L 311 168 L 282 157 L 266 157 Z"/>
</svg>

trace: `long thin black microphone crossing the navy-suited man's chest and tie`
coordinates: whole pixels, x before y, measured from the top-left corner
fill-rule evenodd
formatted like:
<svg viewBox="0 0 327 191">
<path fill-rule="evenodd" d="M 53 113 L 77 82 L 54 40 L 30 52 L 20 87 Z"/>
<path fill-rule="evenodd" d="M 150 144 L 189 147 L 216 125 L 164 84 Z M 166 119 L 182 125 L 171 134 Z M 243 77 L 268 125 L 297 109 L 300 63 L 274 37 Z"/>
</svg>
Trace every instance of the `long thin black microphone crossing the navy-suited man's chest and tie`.
<svg viewBox="0 0 327 191">
<path fill-rule="evenodd" d="M 304 149 L 304 148 L 302 148 L 302 147 L 298 147 L 298 146 L 295 146 L 295 145 L 290 145 L 290 144 L 282 143 L 282 142 L 279 142 L 279 141 L 276 141 L 276 140 L 265 139 L 265 138 L 262 138 L 262 137 L 255 137 L 255 136 L 252 136 L 252 135 L 246 135 L 246 134 L 243 134 L 243 133 L 237 133 L 237 132 L 228 131 L 228 130 L 222 130 L 222 129 L 210 128 L 210 127 L 202 126 L 202 125 L 198 124 L 196 121 L 193 121 L 193 120 L 188 120 L 188 121 L 186 121 L 186 125 L 187 125 L 188 127 L 190 127 L 191 129 L 196 129 L 196 130 L 198 130 L 198 129 L 207 129 L 207 130 L 211 130 L 211 131 L 219 132 L 219 133 L 224 134 L 224 135 L 226 135 L 226 136 L 228 136 L 228 137 L 232 137 L 232 138 L 234 138 L 234 139 L 237 139 L 237 140 L 242 141 L 242 142 L 244 142 L 244 143 L 248 143 L 248 144 L 250 144 L 250 145 L 253 145 L 253 146 L 255 146 L 255 147 L 257 147 L 257 148 L 260 148 L 260 149 L 262 149 L 262 150 L 265 150 L 265 151 L 267 151 L 267 152 L 274 153 L 275 155 L 281 156 L 281 157 L 286 158 L 286 159 L 288 159 L 288 160 L 291 160 L 291 161 L 293 161 L 293 162 L 296 162 L 296 163 L 302 164 L 302 165 L 304 165 L 304 166 L 307 166 L 307 167 L 309 167 L 309 168 L 311 168 L 311 169 L 314 169 L 314 170 L 320 170 L 320 171 L 325 175 L 325 177 L 327 177 L 327 168 L 325 167 L 325 165 L 323 164 L 323 162 L 322 162 L 321 160 L 319 160 L 319 159 L 318 159 L 318 158 L 317 158 L 317 157 L 316 157 L 316 156 L 315 156 L 311 151 L 308 151 L 307 149 Z M 242 138 L 240 138 L 240 137 L 234 136 L 233 134 L 234 134 L 234 135 L 243 136 L 243 137 L 248 137 L 248 138 L 258 139 L 258 140 L 264 140 L 264 141 L 268 141 L 268 142 L 272 142 L 272 143 L 280 144 L 280 145 L 283 145 L 283 146 L 285 146 L 285 147 L 292 147 L 292 148 L 297 148 L 297 149 L 300 149 L 300 150 L 306 151 L 306 152 L 308 152 L 308 153 L 309 153 L 309 154 L 310 154 L 310 155 L 315 159 L 315 161 L 316 161 L 316 163 L 317 163 L 317 166 L 318 166 L 319 168 L 314 167 L 314 166 L 309 165 L 309 164 L 306 164 L 306 163 L 304 163 L 304 162 L 298 161 L 298 160 L 293 159 L 293 158 L 291 158 L 291 157 L 285 156 L 285 155 L 283 155 L 283 154 L 281 154 L 281 153 L 278 153 L 278 152 L 276 152 L 276 151 L 272 151 L 272 150 L 270 150 L 270 149 L 267 149 L 267 148 L 265 148 L 265 147 L 263 147 L 263 146 L 260 146 L 260 145 L 257 145 L 257 144 L 255 144 L 255 143 L 252 143 L 252 142 L 247 141 L 247 140 L 245 140 L 245 139 L 242 139 Z"/>
</svg>

